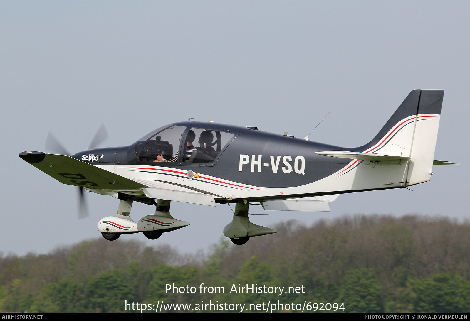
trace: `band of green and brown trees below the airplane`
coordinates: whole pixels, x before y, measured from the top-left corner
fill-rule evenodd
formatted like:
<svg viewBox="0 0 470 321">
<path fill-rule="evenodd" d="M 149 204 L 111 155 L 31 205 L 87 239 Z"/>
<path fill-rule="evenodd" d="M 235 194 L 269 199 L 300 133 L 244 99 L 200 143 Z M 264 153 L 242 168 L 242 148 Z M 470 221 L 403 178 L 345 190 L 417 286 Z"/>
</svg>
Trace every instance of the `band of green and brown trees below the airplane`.
<svg viewBox="0 0 470 321">
<path fill-rule="evenodd" d="M 243 246 L 222 237 L 206 260 L 179 255 L 168 245 L 122 240 L 0 257 L 0 311 L 129 312 L 126 301 L 249 305 L 269 300 L 344 303 L 345 312 L 470 309 L 467 223 L 371 215 L 320 221 L 311 228 L 287 222 L 277 229 Z M 208 293 L 209 288 L 200 293 L 201 284 L 224 287 L 225 293 Z M 305 293 L 247 293 L 247 285 L 284 291 L 304 286 Z M 230 293 L 233 286 L 245 290 Z M 187 293 L 190 287 L 196 293 Z"/>
</svg>

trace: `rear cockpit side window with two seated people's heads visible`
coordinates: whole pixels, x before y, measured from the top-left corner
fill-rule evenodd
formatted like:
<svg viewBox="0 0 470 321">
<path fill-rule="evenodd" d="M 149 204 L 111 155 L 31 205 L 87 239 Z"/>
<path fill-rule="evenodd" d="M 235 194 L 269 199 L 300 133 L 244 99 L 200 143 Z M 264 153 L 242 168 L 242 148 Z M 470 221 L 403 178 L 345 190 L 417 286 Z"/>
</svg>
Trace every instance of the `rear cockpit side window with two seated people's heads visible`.
<svg viewBox="0 0 470 321">
<path fill-rule="evenodd" d="M 212 163 L 219 156 L 220 151 L 234 137 L 234 134 L 228 131 L 204 128 L 191 128 L 191 130 L 196 135 L 193 143 L 196 150 L 189 156 L 188 163 Z"/>
</svg>

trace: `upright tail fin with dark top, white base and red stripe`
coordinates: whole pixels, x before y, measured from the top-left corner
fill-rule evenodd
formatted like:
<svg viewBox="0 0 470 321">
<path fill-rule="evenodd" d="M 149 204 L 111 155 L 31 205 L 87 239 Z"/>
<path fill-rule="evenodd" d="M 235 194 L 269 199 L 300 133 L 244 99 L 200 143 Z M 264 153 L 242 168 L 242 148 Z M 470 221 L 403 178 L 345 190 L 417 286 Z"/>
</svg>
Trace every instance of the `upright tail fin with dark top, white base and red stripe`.
<svg viewBox="0 0 470 321">
<path fill-rule="evenodd" d="M 377 136 L 357 152 L 411 157 L 406 185 L 429 181 L 443 97 L 442 90 L 410 92 Z"/>
</svg>

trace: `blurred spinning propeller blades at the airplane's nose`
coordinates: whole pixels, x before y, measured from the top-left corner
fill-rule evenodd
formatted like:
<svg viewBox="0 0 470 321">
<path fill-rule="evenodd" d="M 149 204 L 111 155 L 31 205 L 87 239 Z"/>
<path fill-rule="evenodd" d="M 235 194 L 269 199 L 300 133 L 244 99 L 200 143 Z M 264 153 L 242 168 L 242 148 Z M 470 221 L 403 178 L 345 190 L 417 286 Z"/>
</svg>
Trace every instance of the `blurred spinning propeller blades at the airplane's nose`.
<svg viewBox="0 0 470 321">
<path fill-rule="evenodd" d="M 100 145 L 106 138 L 108 138 L 108 131 L 104 124 L 101 124 L 100 128 L 94 135 L 94 138 L 91 140 L 90 145 L 88 145 L 88 149 L 94 149 L 98 145 Z M 71 156 L 71 153 L 63 147 L 61 143 L 55 138 L 55 136 L 49 131 L 46 138 L 46 145 L 44 146 L 47 152 L 60 154 L 60 155 L 67 155 Z M 85 193 L 83 191 L 83 187 L 78 186 L 78 219 L 84 219 L 90 216 L 88 212 L 88 206 L 86 205 L 85 201 Z"/>
</svg>

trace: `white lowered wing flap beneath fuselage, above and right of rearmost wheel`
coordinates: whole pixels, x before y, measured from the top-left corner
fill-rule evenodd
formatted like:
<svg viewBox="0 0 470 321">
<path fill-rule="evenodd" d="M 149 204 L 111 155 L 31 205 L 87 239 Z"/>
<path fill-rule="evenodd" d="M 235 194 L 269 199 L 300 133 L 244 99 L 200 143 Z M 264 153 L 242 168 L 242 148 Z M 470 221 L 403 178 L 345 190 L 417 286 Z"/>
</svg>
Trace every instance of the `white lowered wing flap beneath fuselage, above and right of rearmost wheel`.
<svg viewBox="0 0 470 321">
<path fill-rule="evenodd" d="M 339 194 L 303 199 L 282 199 L 261 203 L 266 211 L 312 211 L 330 212 L 329 202 L 333 202 Z"/>
</svg>

